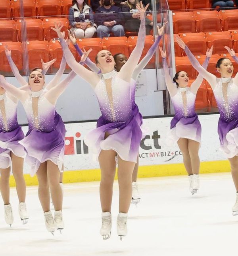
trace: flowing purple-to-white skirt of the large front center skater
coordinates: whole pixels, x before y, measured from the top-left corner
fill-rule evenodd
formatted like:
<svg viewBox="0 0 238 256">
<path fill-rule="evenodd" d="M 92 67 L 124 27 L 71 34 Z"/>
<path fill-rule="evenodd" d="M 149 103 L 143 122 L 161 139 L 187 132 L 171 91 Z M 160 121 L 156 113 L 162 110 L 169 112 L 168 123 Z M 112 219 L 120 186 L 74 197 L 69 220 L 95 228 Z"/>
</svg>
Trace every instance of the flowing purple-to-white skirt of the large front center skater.
<svg viewBox="0 0 238 256">
<path fill-rule="evenodd" d="M 142 139 L 142 116 L 138 107 L 132 109 L 132 117 L 126 122 L 105 123 L 101 116 L 97 128 L 90 131 L 84 142 L 88 145 L 94 160 L 98 160 L 101 150 L 115 150 L 121 159 L 137 162 Z M 105 133 L 109 136 L 105 139 Z"/>
</svg>

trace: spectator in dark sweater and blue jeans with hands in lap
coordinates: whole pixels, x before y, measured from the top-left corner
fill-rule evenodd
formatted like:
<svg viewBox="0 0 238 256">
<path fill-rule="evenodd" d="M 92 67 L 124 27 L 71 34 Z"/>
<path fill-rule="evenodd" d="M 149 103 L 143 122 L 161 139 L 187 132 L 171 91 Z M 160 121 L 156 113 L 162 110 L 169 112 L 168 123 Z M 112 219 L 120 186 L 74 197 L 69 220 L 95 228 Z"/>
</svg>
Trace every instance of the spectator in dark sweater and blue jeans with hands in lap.
<svg viewBox="0 0 238 256">
<path fill-rule="evenodd" d="M 121 8 L 113 5 L 113 0 L 101 0 L 100 7 L 96 10 L 95 22 L 98 25 L 97 35 L 100 38 L 109 37 L 110 32 L 115 37 L 125 35 L 122 24 L 123 15 Z"/>
</svg>

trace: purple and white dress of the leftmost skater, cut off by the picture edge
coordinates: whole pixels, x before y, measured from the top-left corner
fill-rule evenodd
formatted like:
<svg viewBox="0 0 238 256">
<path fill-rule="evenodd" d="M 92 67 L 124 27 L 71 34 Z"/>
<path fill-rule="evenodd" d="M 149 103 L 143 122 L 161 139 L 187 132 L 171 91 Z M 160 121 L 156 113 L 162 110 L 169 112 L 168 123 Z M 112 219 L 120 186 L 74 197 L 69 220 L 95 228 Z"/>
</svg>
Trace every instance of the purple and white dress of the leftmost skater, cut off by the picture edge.
<svg viewBox="0 0 238 256">
<path fill-rule="evenodd" d="M 24 138 L 21 126 L 17 122 L 18 100 L 10 93 L 0 95 L 0 168 L 6 169 L 12 164 L 11 152 L 24 158 L 25 150 L 19 141 Z"/>
</svg>

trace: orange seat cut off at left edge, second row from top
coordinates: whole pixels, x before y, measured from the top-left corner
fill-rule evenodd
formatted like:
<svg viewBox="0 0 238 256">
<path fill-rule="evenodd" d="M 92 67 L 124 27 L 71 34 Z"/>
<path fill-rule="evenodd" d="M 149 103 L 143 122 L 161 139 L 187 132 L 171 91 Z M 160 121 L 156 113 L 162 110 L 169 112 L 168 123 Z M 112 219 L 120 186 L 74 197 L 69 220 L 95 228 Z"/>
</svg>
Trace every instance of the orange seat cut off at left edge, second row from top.
<svg viewBox="0 0 238 256">
<path fill-rule="evenodd" d="M 0 42 L 17 41 L 17 25 L 14 20 L 1 20 Z"/>
</svg>

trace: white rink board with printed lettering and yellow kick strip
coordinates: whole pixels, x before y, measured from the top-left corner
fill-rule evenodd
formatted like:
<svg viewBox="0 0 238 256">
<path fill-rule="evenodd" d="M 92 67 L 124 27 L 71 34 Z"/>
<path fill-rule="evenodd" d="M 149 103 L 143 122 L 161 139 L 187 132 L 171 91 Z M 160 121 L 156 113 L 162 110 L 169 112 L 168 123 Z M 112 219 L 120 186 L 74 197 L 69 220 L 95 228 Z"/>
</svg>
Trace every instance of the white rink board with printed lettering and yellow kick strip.
<svg viewBox="0 0 238 256">
<path fill-rule="evenodd" d="M 172 117 L 144 119 L 143 128 L 148 131 L 140 143 L 138 177 L 156 177 L 184 175 L 186 171 L 182 164 L 182 155 L 177 143 L 170 147 L 166 144 L 167 133 Z M 199 115 L 202 125 L 202 145 L 200 148 L 201 173 L 228 172 L 230 167 L 225 155 L 219 149 L 217 134 L 218 114 Z M 100 180 L 98 162 L 92 161 L 90 150 L 84 144 L 88 131 L 96 127 L 95 122 L 68 123 L 65 138 L 64 182 L 85 182 Z M 24 133 L 27 127 L 23 127 Z M 36 185 L 36 176 L 29 176 L 29 166 L 24 165 L 24 175 L 27 185 Z M 11 177 L 11 186 L 15 182 Z"/>
</svg>

